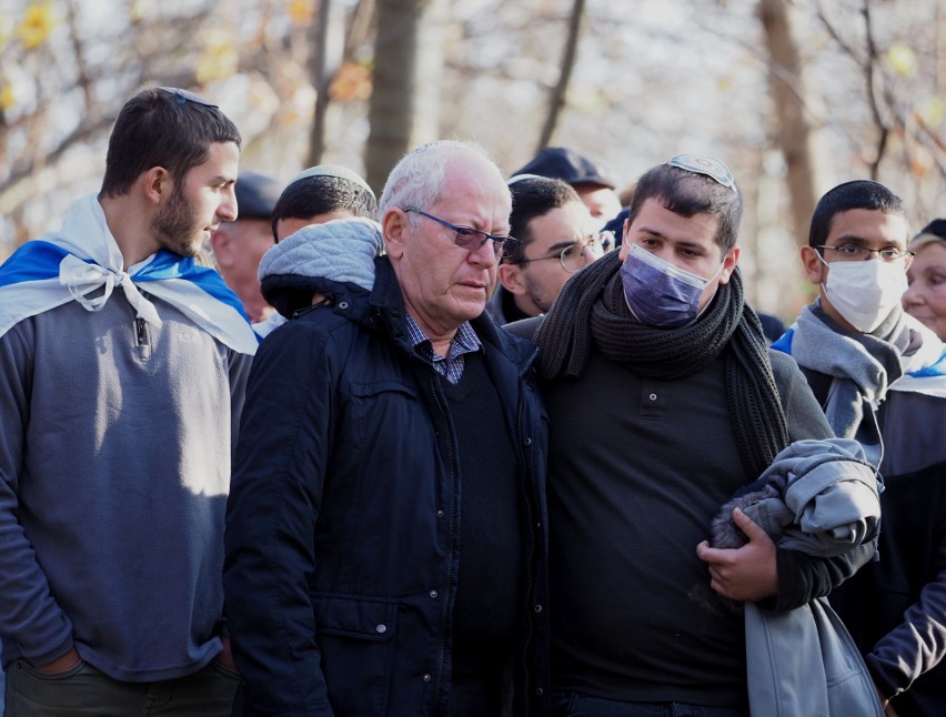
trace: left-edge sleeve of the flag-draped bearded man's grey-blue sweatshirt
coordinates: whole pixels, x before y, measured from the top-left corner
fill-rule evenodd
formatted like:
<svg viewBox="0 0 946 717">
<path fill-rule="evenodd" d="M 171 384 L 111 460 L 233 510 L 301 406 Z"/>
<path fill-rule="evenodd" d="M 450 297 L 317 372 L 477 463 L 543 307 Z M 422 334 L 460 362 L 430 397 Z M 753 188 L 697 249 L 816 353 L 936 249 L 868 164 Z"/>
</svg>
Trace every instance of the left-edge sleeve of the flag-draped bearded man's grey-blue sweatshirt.
<svg viewBox="0 0 946 717">
<path fill-rule="evenodd" d="M 4 652 L 47 665 L 72 648 L 72 623 L 52 597 L 49 580 L 18 519 L 30 415 L 32 321 L 0 336 L 0 635 Z M 34 450 L 41 450 L 38 446 Z"/>
</svg>

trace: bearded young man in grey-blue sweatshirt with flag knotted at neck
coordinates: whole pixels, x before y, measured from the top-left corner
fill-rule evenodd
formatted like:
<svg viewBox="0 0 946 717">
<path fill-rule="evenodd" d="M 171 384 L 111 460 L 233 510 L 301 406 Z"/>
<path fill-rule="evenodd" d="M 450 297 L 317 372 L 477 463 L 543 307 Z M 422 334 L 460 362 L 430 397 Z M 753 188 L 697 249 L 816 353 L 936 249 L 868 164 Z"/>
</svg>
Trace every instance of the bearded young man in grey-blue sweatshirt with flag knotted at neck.
<svg viewBox="0 0 946 717">
<path fill-rule="evenodd" d="M 101 192 L 0 266 L 0 637 L 8 715 L 229 715 L 231 444 L 256 340 L 193 257 L 236 216 L 240 133 L 132 98 Z"/>
</svg>

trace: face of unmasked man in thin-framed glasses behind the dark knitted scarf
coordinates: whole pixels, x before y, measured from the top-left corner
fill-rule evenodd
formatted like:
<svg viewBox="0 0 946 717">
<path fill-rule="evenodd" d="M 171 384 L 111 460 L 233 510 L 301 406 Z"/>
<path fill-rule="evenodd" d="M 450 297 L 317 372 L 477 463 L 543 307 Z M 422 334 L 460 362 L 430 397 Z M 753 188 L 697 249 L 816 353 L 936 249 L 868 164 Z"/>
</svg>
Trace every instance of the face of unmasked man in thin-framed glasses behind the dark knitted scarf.
<svg viewBox="0 0 946 717">
<path fill-rule="evenodd" d="M 500 280 L 515 294 L 515 303 L 523 312 L 531 316 L 546 313 L 574 271 L 600 256 L 587 246 L 590 221 L 582 202 L 568 202 L 529 223 L 532 241 L 524 248 L 525 261 L 500 266 Z M 565 250 L 568 252 L 565 264 L 571 272 L 561 261 Z"/>
</svg>

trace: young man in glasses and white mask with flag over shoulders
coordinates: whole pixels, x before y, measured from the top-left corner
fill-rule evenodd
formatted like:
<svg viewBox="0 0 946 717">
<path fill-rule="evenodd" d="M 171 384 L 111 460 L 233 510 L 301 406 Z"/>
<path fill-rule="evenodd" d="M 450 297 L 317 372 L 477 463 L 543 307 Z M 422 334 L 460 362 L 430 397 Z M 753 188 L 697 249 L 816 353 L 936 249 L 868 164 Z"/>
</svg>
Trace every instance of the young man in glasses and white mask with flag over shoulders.
<svg viewBox="0 0 946 717">
<path fill-rule="evenodd" d="M 774 344 L 801 365 L 841 437 L 880 468 L 879 559 L 832 594 L 889 714 L 946 705 L 946 358 L 905 313 L 903 202 L 858 180 L 815 208 L 802 261 L 818 297 Z"/>
</svg>

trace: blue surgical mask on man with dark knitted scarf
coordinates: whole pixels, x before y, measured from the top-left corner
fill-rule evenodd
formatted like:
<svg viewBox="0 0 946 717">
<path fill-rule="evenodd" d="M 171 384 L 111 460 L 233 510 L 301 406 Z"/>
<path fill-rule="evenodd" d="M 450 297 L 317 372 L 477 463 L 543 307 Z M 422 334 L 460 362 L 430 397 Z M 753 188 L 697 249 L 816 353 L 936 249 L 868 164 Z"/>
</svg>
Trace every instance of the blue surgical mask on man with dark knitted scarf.
<svg viewBox="0 0 946 717">
<path fill-rule="evenodd" d="M 634 244 L 621 266 L 624 301 L 642 323 L 676 329 L 696 319 L 700 296 L 722 269 L 719 264 L 713 276 L 703 279 Z"/>
</svg>

